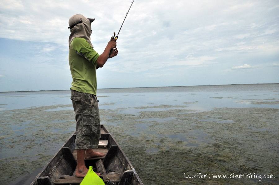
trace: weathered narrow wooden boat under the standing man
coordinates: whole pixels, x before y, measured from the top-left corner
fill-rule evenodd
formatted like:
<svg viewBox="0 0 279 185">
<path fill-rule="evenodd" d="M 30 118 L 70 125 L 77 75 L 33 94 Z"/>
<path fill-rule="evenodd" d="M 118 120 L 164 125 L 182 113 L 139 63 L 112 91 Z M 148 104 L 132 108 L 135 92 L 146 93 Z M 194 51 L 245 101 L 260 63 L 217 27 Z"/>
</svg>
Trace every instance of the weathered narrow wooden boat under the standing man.
<svg viewBox="0 0 279 185">
<path fill-rule="evenodd" d="M 76 135 L 73 134 L 37 175 L 32 185 L 81 183 L 83 178 L 74 175 L 77 165 L 75 139 Z M 104 125 L 101 125 L 100 140 L 107 141 L 106 148 L 99 143 L 99 148 L 93 150 L 105 153 L 105 156 L 85 160 L 86 167 L 93 166 L 93 170 L 101 174 L 105 183 L 110 180 L 118 185 L 143 185 L 131 162 Z"/>
</svg>

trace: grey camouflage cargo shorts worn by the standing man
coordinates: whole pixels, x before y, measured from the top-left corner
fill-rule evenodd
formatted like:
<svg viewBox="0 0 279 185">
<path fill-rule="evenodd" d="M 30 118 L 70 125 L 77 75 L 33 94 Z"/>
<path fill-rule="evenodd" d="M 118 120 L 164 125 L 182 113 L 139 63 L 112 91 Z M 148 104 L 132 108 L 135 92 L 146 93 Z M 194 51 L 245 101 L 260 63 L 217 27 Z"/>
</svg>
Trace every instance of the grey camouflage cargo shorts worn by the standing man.
<svg viewBox="0 0 279 185">
<path fill-rule="evenodd" d="M 100 114 L 97 97 L 71 90 L 76 114 L 76 149 L 98 148 L 101 137 Z"/>
</svg>

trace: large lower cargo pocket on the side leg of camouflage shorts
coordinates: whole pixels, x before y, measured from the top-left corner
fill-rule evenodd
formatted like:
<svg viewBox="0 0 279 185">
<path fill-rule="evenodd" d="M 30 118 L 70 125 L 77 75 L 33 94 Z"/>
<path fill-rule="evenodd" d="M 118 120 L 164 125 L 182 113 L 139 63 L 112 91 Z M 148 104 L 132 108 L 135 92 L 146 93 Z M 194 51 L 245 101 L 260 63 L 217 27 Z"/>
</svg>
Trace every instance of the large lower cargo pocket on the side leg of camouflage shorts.
<svg viewBox="0 0 279 185">
<path fill-rule="evenodd" d="M 98 114 L 84 115 L 82 118 L 82 135 L 83 136 L 92 136 L 96 135 L 98 132 L 99 116 Z"/>
</svg>

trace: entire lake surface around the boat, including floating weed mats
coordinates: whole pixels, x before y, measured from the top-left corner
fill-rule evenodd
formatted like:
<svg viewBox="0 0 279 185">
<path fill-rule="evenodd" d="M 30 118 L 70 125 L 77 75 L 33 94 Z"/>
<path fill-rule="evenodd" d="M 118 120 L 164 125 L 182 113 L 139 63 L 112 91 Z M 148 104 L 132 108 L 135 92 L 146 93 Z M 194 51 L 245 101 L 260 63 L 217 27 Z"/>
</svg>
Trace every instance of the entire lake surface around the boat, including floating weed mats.
<svg viewBox="0 0 279 185">
<path fill-rule="evenodd" d="M 184 179 L 199 172 L 270 173 L 276 178 L 262 182 L 279 182 L 279 84 L 98 89 L 97 96 L 101 124 L 145 184 L 204 183 Z M 1 92 L 0 110 L 0 182 L 46 165 L 75 130 L 69 90 Z"/>
</svg>

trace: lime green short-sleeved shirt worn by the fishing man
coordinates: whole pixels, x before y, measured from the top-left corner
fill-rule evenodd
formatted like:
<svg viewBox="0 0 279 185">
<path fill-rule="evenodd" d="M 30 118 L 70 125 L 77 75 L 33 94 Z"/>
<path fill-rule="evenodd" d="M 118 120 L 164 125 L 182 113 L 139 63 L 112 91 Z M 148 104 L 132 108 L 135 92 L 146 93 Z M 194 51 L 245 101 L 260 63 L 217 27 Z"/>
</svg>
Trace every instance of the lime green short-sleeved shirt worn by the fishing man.
<svg viewBox="0 0 279 185">
<path fill-rule="evenodd" d="M 69 49 L 69 64 L 73 77 L 70 89 L 96 95 L 96 61 L 99 54 L 80 37 L 73 39 Z"/>
</svg>

